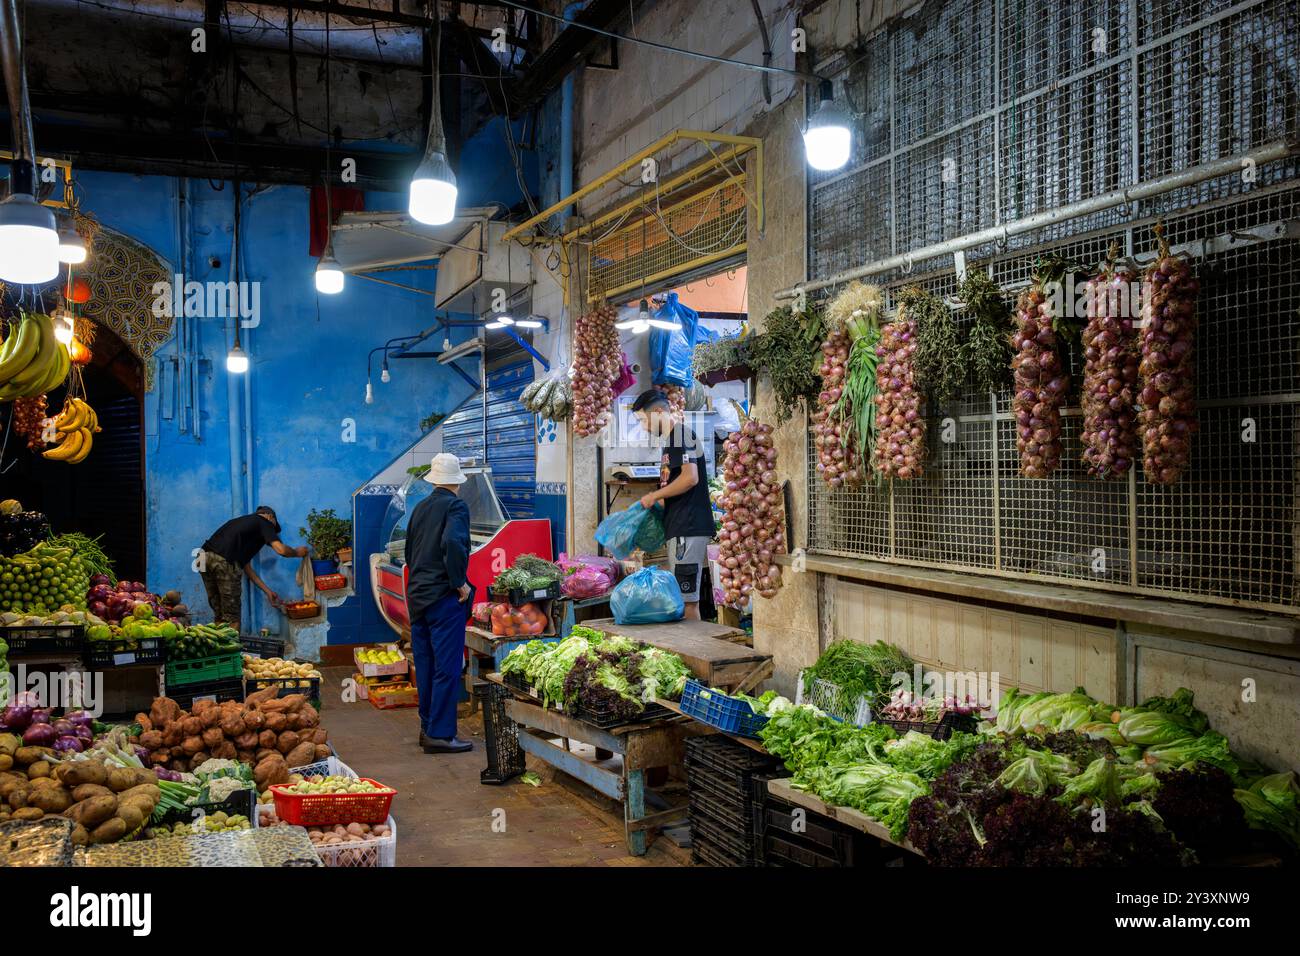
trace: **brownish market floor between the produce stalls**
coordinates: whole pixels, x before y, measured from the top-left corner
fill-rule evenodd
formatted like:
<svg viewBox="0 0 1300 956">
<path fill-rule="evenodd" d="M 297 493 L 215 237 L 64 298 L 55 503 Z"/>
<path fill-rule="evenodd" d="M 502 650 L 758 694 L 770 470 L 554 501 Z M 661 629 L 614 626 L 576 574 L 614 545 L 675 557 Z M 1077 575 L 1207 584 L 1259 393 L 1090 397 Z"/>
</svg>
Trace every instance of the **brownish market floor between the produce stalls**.
<svg viewBox="0 0 1300 956">
<path fill-rule="evenodd" d="M 644 857 L 628 855 L 621 806 L 529 757 L 540 787 L 517 778 L 499 787 L 478 782 L 488 765 L 481 714 L 465 717 L 460 736 L 474 749 L 426 754 L 416 745 L 415 708 L 376 710 L 341 702 L 350 667 L 325 667 L 321 722 L 339 758 L 363 777 L 396 787 L 398 866 L 682 866 L 690 851 L 653 836 Z"/>
</svg>

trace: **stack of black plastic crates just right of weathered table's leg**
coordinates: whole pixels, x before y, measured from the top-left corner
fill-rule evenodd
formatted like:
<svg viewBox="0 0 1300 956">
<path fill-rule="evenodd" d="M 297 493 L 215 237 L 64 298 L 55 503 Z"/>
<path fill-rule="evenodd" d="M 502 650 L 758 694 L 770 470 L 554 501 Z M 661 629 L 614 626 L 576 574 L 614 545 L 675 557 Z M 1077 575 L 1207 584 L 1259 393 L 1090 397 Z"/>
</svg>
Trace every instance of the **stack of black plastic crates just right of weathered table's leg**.
<svg viewBox="0 0 1300 956">
<path fill-rule="evenodd" d="M 693 857 L 706 866 L 758 865 L 754 788 L 779 761 L 716 734 L 686 740 Z"/>
</svg>

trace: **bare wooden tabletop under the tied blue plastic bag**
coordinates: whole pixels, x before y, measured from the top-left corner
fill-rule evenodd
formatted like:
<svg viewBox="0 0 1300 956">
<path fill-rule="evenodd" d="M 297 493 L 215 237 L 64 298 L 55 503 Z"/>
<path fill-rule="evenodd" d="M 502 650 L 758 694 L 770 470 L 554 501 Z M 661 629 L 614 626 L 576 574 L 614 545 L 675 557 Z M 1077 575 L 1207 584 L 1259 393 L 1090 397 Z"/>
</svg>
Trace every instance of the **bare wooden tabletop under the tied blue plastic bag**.
<svg viewBox="0 0 1300 956">
<path fill-rule="evenodd" d="M 672 620 L 667 624 L 615 624 L 614 618 L 584 622 L 584 627 L 623 635 L 677 654 L 690 672 L 710 687 L 749 692 L 772 676 L 771 654 L 759 654 L 734 643 L 745 632 L 710 620 Z"/>
</svg>

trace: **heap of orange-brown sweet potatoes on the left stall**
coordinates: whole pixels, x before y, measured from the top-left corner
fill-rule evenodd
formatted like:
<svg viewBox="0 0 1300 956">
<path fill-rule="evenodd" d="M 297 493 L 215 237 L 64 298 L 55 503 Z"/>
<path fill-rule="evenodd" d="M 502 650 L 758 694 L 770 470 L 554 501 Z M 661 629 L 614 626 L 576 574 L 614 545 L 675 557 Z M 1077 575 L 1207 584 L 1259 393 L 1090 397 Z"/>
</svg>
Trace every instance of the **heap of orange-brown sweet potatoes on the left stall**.
<svg viewBox="0 0 1300 956">
<path fill-rule="evenodd" d="M 251 763 L 259 790 L 287 783 L 289 769 L 329 756 L 325 728 L 304 695 L 277 697 L 278 688 L 248 695 L 243 704 L 198 701 L 190 711 L 170 697 L 155 697 L 148 714 L 136 714 L 139 745 L 150 762 L 190 771 L 205 760 Z"/>
</svg>

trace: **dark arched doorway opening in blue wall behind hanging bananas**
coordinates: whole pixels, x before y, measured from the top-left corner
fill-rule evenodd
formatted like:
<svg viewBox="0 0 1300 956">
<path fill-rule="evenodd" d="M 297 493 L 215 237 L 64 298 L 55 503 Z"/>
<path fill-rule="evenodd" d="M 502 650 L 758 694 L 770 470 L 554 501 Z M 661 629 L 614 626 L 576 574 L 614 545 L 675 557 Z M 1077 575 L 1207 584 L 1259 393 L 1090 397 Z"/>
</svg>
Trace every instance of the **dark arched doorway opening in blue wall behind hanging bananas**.
<svg viewBox="0 0 1300 956">
<path fill-rule="evenodd" d="M 51 462 L 10 436 L 0 467 L 5 497 L 42 511 L 56 533 L 103 536 L 120 578 L 144 580 L 144 367 L 112 329 L 96 328 L 92 359 L 82 369 L 86 401 L 103 431 L 78 464 Z M 65 389 L 48 397 L 51 414 Z"/>
</svg>

